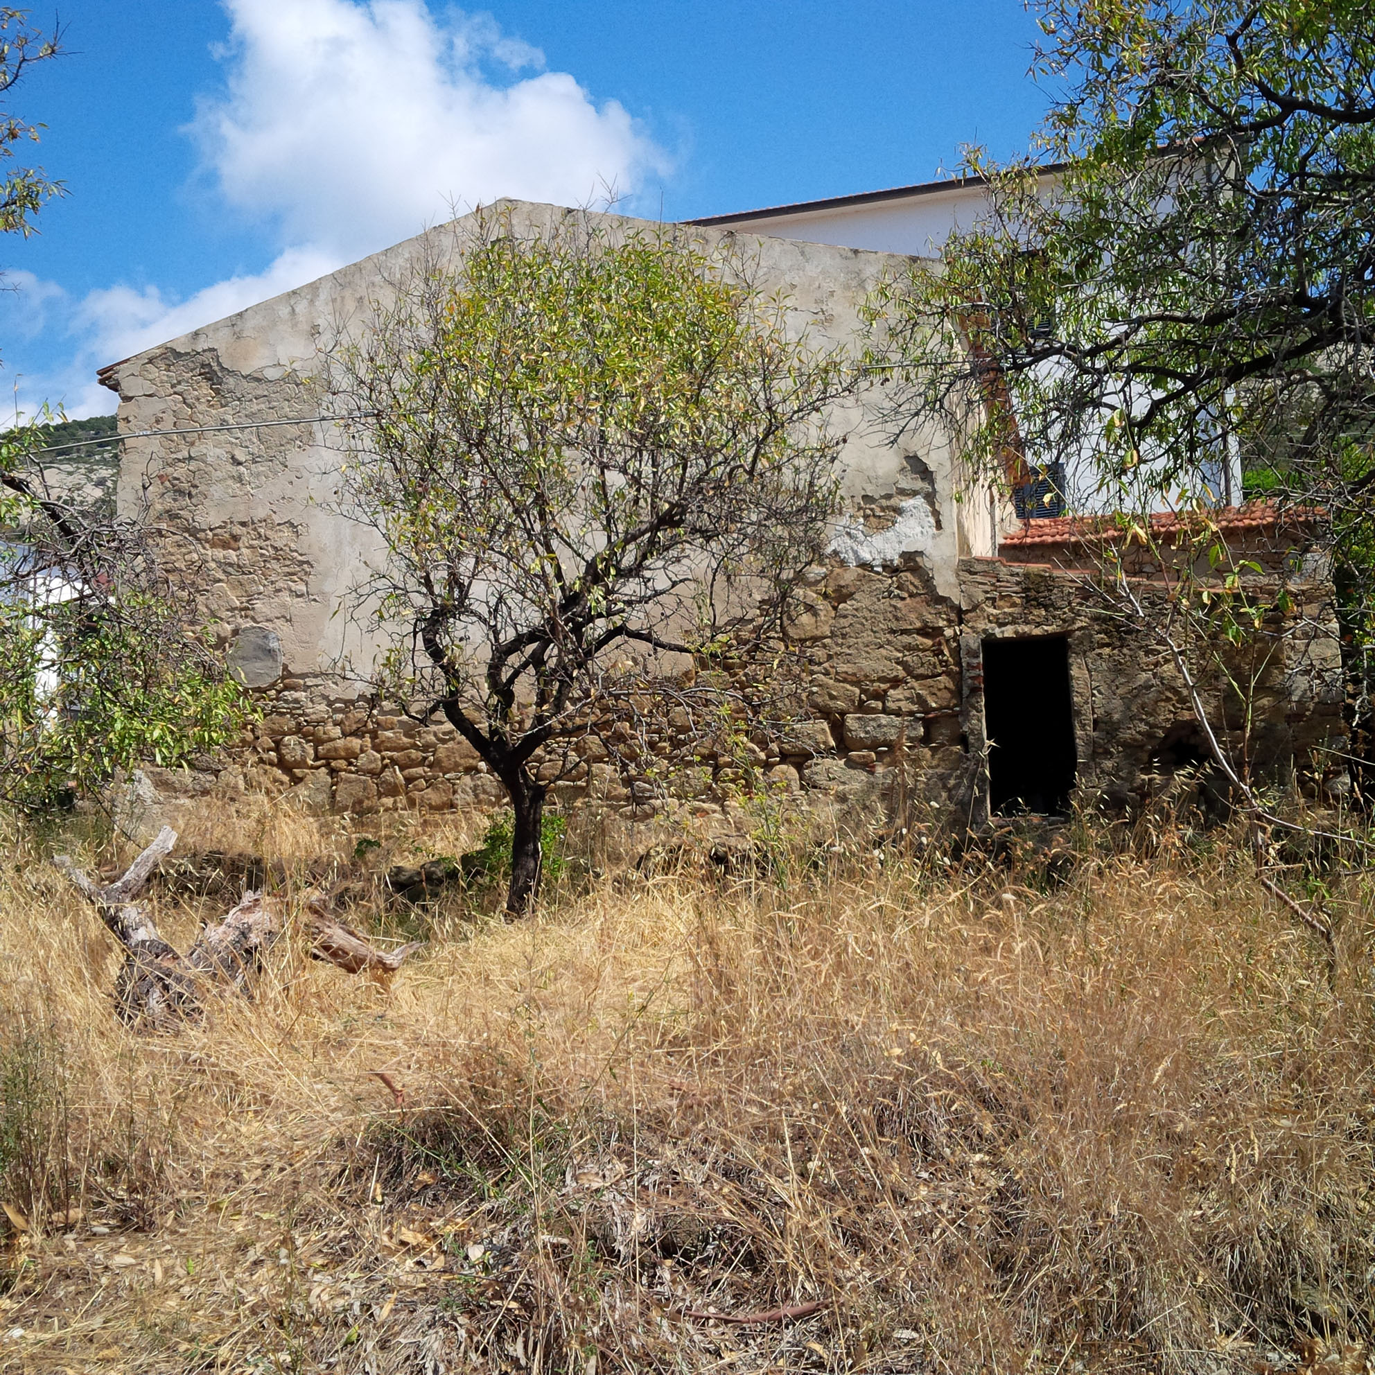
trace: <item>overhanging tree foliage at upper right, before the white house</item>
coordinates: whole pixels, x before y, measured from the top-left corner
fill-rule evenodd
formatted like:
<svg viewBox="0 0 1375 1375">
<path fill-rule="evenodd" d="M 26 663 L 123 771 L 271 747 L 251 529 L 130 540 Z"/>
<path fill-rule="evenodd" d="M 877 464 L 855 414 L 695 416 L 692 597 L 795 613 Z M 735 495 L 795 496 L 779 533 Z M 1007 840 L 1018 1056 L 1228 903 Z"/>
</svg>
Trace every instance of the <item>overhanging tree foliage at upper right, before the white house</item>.
<svg viewBox="0 0 1375 1375">
<path fill-rule="evenodd" d="M 1063 465 L 1081 512 L 1121 513 L 1144 540 L 1150 512 L 1194 513 L 1214 564 L 1231 558 L 1206 529 L 1218 499 L 1320 514 L 1358 645 L 1375 543 L 1368 6 L 1038 11 L 1037 70 L 1057 91 L 1040 151 L 971 153 L 987 216 L 874 302 L 894 411 L 957 426 L 1002 484 Z"/>
</svg>

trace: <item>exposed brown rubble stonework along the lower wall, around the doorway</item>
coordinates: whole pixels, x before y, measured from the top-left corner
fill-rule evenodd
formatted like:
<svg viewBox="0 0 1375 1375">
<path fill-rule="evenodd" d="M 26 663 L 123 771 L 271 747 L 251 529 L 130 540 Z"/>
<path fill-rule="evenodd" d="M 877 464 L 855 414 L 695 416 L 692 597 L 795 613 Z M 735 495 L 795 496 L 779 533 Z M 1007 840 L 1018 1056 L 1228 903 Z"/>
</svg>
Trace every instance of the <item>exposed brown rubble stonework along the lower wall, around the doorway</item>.
<svg viewBox="0 0 1375 1375">
<path fill-rule="evenodd" d="M 903 566 L 905 565 L 905 566 Z M 1343 734 L 1343 682 L 1331 619 L 1331 587 L 1290 583 L 1294 609 L 1283 635 L 1254 659 L 1233 652 L 1238 679 L 1255 693 L 1248 727 L 1258 773 L 1320 796 L 1336 770 L 1324 751 Z M 1167 590 L 1137 584 L 1154 613 Z M 920 556 L 876 573 L 833 564 L 818 569 L 792 622 L 807 661 L 810 719 L 760 741 L 755 777 L 773 788 L 858 814 L 894 806 L 898 789 L 950 820 L 987 820 L 983 756 L 983 644 L 1001 637 L 1063 635 L 1068 644 L 1077 748 L 1075 798 L 1110 813 L 1150 800 L 1167 773 L 1169 742 L 1194 714 L 1169 648 L 1114 613 L 1081 575 L 1064 569 L 965 560 L 960 598 L 938 593 Z M 267 653 L 270 663 L 271 653 Z M 256 661 L 261 667 L 261 661 Z M 1238 703 L 1217 675 L 1204 678 L 1209 716 L 1243 747 Z M 385 813 L 488 808 L 505 793 L 447 722 L 421 723 L 397 708 L 327 696 L 327 683 L 279 675 L 261 688 L 263 719 L 227 764 L 205 760 L 176 791 L 261 791 L 312 810 Z M 736 760 L 716 756 L 683 719 L 649 741 L 674 760 L 668 786 L 648 767 L 617 767 L 595 736 L 578 742 L 580 762 L 556 788 L 562 806 L 595 803 L 644 820 L 664 806 L 729 820 L 738 796 Z"/>
</svg>

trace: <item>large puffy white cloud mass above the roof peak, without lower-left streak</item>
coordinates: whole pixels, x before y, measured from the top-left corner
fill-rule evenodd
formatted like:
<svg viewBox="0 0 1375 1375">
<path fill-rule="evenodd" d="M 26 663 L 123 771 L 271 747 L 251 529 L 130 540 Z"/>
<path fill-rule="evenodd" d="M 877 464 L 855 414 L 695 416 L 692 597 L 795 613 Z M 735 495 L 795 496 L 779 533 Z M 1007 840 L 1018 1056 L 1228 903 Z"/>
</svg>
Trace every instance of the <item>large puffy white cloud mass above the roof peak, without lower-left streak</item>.
<svg viewBox="0 0 1375 1375">
<path fill-rule="evenodd" d="M 359 256 L 502 195 L 631 194 L 663 154 L 487 16 L 422 0 L 227 0 L 228 91 L 191 132 L 224 198 L 289 243 Z M 495 72 L 494 66 L 505 69 Z"/>
</svg>

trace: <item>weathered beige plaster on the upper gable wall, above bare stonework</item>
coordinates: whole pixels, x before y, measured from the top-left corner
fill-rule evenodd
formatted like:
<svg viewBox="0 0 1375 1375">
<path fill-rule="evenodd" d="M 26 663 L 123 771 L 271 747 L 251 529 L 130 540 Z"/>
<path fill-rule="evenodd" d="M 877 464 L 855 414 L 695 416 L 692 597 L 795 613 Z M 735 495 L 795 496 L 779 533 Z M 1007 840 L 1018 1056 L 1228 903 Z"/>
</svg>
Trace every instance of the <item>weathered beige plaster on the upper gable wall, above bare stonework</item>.
<svg viewBox="0 0 1375 1375">
<path fill-rule="evenodd" d="M 505 209 L 517 230 L 573 213 L 524 204 Z M 594 219 L 613 234 L 661 228 L 619 216 Z M 441 226 L 103 370 L 106 385 L 120 393 L 121 432 L 319 414 L 312 384 L 320 348 L 359 329 L 373 304 L 386 298 L 389 283 L 451 254 L 463 223 Z M 705 242 L 727 236 L 690 232 Z M 857 344 L 859 305 L 879 274 L 898 261 L 752 236 L 741 249 L 760 289 L 788 297 L 792 327 L 808 330 L 822 348 Z M 872 535 L 899 518 L 903 500 L 918 502 L 921 518 L 908 520 L 906 547 L 920 544 L 932 576 L 953 594 L 957 547 L 942 516 L 952 509 L 943 446 L 920 437 L 890 444 L 864 397 L 837 407 L 832 422 L 847 436 L 842 472 L 846 498 L 857 507 L 855 529 Z M 169 560 L 205 588 L 224 635 L 232 639 L 248 626 L 271 630 L 287 675 L 320 690 L 342 690 L 346 664 L 366 675 L 378 652 L 346 615 L 352 587 L 381 558 L 381 547 L 368 529 L 334 509 L 340 459 L 333 426 L 274 425 L 129 440 L 120 474 L 125 512 L 144 503 L 157 524 L 190 536 L 168 544 Z"/>
</svg>

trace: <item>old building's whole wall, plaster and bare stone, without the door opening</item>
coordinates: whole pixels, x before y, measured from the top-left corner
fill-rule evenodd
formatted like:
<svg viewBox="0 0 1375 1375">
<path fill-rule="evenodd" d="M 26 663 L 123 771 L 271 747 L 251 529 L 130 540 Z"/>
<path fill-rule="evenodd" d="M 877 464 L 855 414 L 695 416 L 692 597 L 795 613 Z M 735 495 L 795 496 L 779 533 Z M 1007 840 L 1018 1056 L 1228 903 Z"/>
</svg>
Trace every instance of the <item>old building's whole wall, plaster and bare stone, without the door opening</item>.
<svg viewBox="0 0 1375 1375">
<path fill-rule="evenodd" d="M 531 230 L 575 213 L 506 209 Z M 593 219 L 612 234 L 645 228 Z M 727 236 L 690 232 L 708 246 Z M 146 510 L 166 532 L 168 571 L 198 591 L 264 712 L 231 760 L 158 773 L 160 786 L 260 789 L 363 814 L 500 800 L 452 727 L 359 696 L 386 646 L 351 615 L 352 598 L 385 551 L 375 532 L 340 512 L 338 436 L 309 419 L 322 406 L 312 382 L 322 345 L 366 320 L 389 283 L 461 243 L 459 231 L 440 227 L 103 370 L 121 397 L 120 429 L 155 432 L 124 447 L 120 507 Z M 868 293 L 906 263 L 786 239 L 742 248 L 759 287 L 789 300 L 791 327 L 850 349 L 862 344 Z M 1055 553 L 1066 564 L 1059 571 L 1035 562 L 1052 557 L 1044 544 L 1018 547 L 1006 531 L 1009 557 L 965 557 L 991 553 L 1006 503 L 987 487 L 961 487 L 949 436 L 894 434 L 877 389 L 837 403 L 830 422 L 844 437 L 848 514 L 791 627 L 807 661 L 811 719 L 755 742 L 749 773 L 843 808 L 891 803 L 901 792 L 978 821 L 986 807 L 980 646 L 990 637 L 1056 634 L 1071 650 L 1078 796 L 1112 808 L 1147 798 L 1160 741 L 1189 715 L 1169 656 L 1086 594 L 1068 546 Z M 1238 534 L 1246 557 L 1266 539 L 1260 527 Z M 1265 547 L 1275 557 L 1258 560 L 1264 576 L 1294 582 L 1306 620 L 1294 620 L 1265 666 L 1258 762 L 1297 756 L 1298 781 L 1314 791 L 1323 778 L 1313 749 L 1342 733 L 1330 586 L 1321 568 L 1291 558 L 1284 540 Z M 1148 576 L 1140 586 L 1163 595 Z M 1225 694 L 1214 697 L 1218 719 L 1226 718 Z M 729 820 L 741 784 L 736 760 L 672 725 L 646 745 L 654 760 L 681 766 L 672 786 L 681 806 Z M 652 789 L 641 782 L 649 782 L 648 759 L 638 780 L 634 767 L 627 777 L 605 742 L 588 738 L 557 796 L 638 815 L 650 810 Z"/>
</svg>

